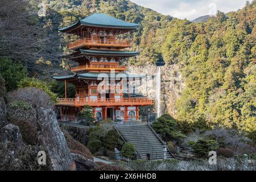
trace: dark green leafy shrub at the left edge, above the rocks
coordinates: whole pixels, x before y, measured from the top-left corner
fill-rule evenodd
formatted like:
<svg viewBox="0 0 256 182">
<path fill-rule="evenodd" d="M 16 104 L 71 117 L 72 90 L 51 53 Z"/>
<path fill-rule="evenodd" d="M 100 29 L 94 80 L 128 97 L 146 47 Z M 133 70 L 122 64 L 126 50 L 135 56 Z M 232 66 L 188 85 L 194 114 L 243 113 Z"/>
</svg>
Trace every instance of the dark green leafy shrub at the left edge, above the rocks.
<svg viewBox="0 0 256 182">
<path fill-rule="evenodd" d="M 7 58 L 1 58 L 0 63 L 0 76 L 5 79 L 7 92 L 18 88 L 18 82 L 27 77 L 27 69 Z"/>
</svg>

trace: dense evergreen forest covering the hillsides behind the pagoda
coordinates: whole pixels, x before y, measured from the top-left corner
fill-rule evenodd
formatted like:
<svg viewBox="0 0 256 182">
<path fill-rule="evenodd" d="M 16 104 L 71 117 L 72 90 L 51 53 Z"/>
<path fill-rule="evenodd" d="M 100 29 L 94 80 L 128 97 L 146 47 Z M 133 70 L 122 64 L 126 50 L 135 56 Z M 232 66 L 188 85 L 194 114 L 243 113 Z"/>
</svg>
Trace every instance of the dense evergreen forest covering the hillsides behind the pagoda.
<svg viewBox="0 0 256 182">
<path fill-rule="evenodd" d="M 9 2 L 2 2 L 5 1 Z M 255 132 L 256 1 L 227 15 L 219 11 L 205 23 L 165 16 L 126 0 L 44 2 L 46 17 L 39 19 L 35 14 L 37 0 L 0 6 L 0 10 L 5 10 L 0 13 L 0 59 L 22 63 L 30 76 L 49 78 L 61 72 L 60 63 L 66 66 L 60 55 L 67 52 L 65 42 L 69 37 L 61 35 L 57 28 L 94 12 L 106 13 L 140 24 L 130 35 L 130 49 L 141 54 L 130 59 L 129 64 L 179 65 L 185 80 L 185 89 L 176 103 L 181 126 L 206 123 Z M 13 18 L 19 14 L 13 13 L 15 9 L 24 14 L 22 18 Z M 15 30 L 15 34 L 10 30 Z M 8 73 L 0 75 L 5 78 Z"/>
</svg>

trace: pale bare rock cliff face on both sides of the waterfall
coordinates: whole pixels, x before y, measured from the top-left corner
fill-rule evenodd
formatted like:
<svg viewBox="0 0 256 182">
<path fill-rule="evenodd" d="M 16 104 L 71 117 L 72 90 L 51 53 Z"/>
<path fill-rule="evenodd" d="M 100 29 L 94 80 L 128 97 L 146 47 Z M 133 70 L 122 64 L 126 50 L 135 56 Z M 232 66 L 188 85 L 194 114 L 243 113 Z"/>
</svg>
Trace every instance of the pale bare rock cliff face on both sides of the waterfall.
<svg viewBox="0 0 256 182">
<path fill-rule="evenodd" d="M 160 111 L 158 110 L 158 85 L 157 75 L 159 74 L 158 67 L 155 65 L 145 65 L 137 67 L 134 65 L 128 66 L 128 73 L 146 75 L 138 85 L 138 92 L 155 100 L 155 113 L 168 113 L 173 117 L 177 115 L 176 101 L 184 89 L 184 80 L 181 77 L 180 69 L 177 65 L 164 65 L 160 67 L 161 87 L 160 87 Z"/>
</svg>

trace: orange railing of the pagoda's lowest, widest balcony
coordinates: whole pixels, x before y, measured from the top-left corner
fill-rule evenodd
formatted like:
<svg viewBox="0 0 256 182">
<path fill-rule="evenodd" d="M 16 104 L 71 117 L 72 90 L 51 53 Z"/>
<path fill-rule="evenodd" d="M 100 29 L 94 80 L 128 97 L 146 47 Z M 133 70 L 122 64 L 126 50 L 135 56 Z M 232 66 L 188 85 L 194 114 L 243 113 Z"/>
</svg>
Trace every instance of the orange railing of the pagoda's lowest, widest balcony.
<svg viewBox="0 0 256 182">
<path fill-rule="evenodd" d="M 88 100 L 86 98 L 59 98 L 57 105 L 65 105 L 65 106 L 125 106 L 125 105 L 152 105 L 153 101 L 148 98 L 106 98 L 106 99 L 92 99 Z"/>
</svg>

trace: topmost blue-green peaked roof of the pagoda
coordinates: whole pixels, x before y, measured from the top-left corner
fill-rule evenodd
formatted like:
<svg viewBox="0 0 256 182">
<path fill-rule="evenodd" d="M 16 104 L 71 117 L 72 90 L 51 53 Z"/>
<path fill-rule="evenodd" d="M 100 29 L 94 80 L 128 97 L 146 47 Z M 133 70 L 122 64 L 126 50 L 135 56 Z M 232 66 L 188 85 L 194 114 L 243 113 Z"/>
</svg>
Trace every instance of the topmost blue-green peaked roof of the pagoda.
<svg viewBox="0 0 256 182">
<path fill-rule="evenodd" d="M 125 22 L 121 19 L 114 18 L 104 13 L 94 13 L 71 26 L 59 28 L 60 31 L 65 32 L 79 27 L 80 25 L 91 27 L 105 27 L 105 28 L 121 28 L 121 29 L 134 29 L 139 26 L 137 23 Z"/>
</svg>

